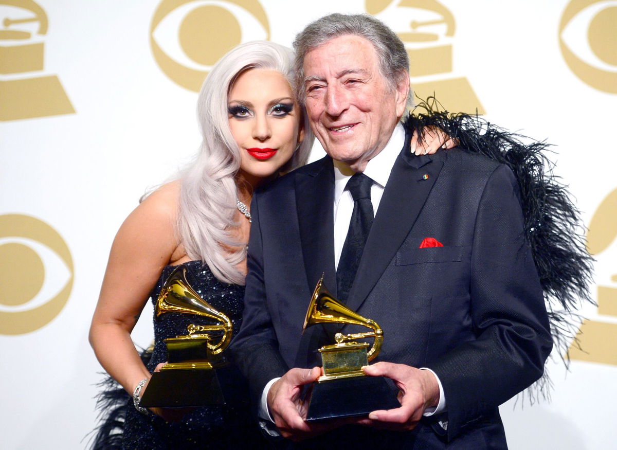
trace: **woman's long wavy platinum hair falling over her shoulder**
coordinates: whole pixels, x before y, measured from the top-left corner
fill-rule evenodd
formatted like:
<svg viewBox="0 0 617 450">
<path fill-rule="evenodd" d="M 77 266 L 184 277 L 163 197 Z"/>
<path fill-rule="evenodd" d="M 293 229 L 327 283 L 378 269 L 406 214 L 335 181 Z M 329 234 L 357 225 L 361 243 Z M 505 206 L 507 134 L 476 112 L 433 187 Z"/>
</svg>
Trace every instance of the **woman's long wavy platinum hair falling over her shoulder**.
<svg viewBox="0 0 617 450">
<path fill-rule="evenodd" d="M 292 51 L 279 44 L 241 44 L 218 61 L 197 101 L 203 140 L 194 160 L 181 172 L 177 227 L 189 257 L 201 259 L 219 280 L 238 285 L 244 285 L 244 275 L 235 266 L 246 257 L 246 243 L 239 243 L 231 233 L 238 225 L 234 215 L 240 149 L 229 127 L 228 93 L 236 78 L 250 69 L 276 70 L 295 88 Z M 305 164 L 309 157 L 313 134 L 304 111 L 302 120 L 305 138 L 281 172 Z"/>
</svg>

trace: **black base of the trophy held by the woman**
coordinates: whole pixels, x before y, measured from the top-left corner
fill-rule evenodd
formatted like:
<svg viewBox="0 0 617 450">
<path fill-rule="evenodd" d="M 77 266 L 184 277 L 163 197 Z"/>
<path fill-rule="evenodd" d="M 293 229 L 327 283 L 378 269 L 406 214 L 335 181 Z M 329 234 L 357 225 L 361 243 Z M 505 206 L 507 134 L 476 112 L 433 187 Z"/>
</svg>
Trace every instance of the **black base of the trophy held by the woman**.
<svg viewBox="0 0 617 450">
<path fill-rule="evenodd" d="M 152 373 L 139 405 L 184 408 L 224 403 L 217 370 L 171 369 Z"/>
</svg>

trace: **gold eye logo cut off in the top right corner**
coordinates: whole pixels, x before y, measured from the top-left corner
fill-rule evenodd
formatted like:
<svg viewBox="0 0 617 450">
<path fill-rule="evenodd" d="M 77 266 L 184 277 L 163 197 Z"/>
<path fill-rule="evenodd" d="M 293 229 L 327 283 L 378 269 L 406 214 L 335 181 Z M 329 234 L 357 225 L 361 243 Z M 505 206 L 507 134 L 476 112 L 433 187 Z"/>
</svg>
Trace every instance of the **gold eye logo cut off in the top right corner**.
<svg viewBox="0 0 617 450">
<path fill-rule="evenodd" d="M 559 45 L 574 75 L 617 94 L 617 0 L 573 0 L 559 24 Z"/>
</svg>

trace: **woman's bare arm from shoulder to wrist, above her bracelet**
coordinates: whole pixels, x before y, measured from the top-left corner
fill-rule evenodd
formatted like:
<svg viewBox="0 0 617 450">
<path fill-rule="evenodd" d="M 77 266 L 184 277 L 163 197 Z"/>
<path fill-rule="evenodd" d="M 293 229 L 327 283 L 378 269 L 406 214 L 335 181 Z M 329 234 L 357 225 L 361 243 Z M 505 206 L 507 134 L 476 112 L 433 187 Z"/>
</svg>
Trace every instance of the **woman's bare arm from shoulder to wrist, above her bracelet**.
<svg viewBox="0 0 617 450">
<path fill-rule="evenodd" d="M 130 394 L 139 381 L 150 377 L 130 334 L 162 269 L 178 259 L 179 193 L 178 182 L 162 186 L 126 218 L 112 245 L 90 326 L 97 359 Z"/>
</svg>

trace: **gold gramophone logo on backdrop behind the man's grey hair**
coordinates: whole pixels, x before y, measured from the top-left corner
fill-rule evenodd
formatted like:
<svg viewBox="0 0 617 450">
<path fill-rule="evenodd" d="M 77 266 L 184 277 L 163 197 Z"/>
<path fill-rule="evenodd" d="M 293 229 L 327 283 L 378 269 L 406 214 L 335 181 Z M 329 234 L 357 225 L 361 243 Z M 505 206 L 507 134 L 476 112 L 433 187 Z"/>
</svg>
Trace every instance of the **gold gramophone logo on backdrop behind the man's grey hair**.
<svg viewBox="0 0 617 450">
<path fill-rule="evenodd" d="M 451 112 L 486 114 L 467 78 L 453 71 L 456 26 L 445 6 L 436 0 L 365 0 L 365 7 L 405 43 L 416 98 L 426 99 L 434 93 Z"/>
</svg>

